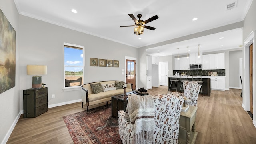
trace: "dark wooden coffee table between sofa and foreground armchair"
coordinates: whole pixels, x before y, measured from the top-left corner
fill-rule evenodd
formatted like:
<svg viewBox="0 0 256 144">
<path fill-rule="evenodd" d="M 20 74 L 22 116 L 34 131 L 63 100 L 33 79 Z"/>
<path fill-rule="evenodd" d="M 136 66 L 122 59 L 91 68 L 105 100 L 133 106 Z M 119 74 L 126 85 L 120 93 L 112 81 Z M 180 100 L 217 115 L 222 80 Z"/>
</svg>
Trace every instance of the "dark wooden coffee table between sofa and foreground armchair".
<svg viewBox="0 0 256 144">
<path fill-rule="evenodd" d="M 138 92 L 136 92 L 136 91 L 127 92 L 126 96 L 129 95 L 129 94 L 138 94 Z M 127 99 L 124 99 L 124 94 L 119 94 L 119 95 L 111 97 L 112 117 L 118 119 L 118 111 L 119 110 L 124 110 L 125 111 L 126 107 L 127 107 Z"/>
</svg>

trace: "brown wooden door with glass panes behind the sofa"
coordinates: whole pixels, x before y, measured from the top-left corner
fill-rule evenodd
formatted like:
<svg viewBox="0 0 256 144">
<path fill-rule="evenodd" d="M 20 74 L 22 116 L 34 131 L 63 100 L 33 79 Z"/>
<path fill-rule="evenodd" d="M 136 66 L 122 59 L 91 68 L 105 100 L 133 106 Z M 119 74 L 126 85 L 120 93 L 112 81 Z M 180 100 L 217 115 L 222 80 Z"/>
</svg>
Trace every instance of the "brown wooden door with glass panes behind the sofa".
<svg viewBox="0 0 256 144">
<path fill-rule="evenodd" d="M 126 60 L 126 83 L 133 84 L 133 90 L 136 89 L 136 62 L 135 60 Z"/>
</svg>

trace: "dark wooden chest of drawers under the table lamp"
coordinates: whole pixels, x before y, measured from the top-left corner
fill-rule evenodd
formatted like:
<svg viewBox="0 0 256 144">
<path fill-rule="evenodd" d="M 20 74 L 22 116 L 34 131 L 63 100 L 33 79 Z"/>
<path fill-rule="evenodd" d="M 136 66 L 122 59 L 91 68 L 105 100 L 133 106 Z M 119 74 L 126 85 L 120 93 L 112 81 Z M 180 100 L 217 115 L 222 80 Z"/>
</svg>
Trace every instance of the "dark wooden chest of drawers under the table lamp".
<svg viewBox="0 0 256 144">
<path fill-rule="evenodd" d="M 23 90 L 23 118 L 34 118 L 48 111 L 48 89 Z"/>
</svg>

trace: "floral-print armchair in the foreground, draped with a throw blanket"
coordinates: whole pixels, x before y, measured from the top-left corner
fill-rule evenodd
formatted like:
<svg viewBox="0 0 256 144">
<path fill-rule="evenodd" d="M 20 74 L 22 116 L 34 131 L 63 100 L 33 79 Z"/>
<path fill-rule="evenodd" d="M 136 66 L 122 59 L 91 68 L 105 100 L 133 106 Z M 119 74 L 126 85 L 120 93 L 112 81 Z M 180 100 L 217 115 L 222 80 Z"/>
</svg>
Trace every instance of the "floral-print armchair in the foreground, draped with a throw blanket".
<svg viewBox="0 0 256 144">
<path fill-rule="evenodd" d="M 180 111 L 184 98 L 177 95 L 158 94 L 154 98 L 154 144 L 178 144 Z M 123 144 L 132 144 L 134 124 L 118 111 L 119 134 Z M 144 141 L 144 144 L 150 142 Z M 152 142 L 151 142 L 152 143 Z M 150 144 L 151 144 L 150 143 Z"/>
</svg>

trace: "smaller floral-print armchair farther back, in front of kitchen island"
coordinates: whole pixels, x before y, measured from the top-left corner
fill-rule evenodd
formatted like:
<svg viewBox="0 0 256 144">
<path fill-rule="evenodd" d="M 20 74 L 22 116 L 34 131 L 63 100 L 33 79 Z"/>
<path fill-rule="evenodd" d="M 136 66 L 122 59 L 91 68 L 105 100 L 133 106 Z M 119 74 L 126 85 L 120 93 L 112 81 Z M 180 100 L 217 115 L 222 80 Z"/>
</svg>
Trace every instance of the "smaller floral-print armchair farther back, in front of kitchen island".
<svg viewBox="0 0 256 144">
<path fill-rule="evenodd" d="M 170 95 L 180 95 L 185 98 L 186 104 L 190 106 L 197 106 L 197 99 L 202 85 L 194 81 L 184 81 L 184 93 L 167 92 Z"/>
</svg>

